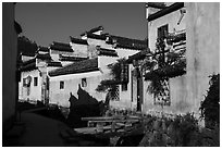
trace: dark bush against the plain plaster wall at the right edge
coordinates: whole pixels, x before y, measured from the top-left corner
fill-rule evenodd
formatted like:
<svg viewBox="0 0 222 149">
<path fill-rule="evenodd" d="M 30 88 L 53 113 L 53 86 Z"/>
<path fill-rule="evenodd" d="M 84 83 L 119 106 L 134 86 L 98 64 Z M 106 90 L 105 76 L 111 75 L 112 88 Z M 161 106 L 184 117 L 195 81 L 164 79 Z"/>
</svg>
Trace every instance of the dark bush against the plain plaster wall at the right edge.
<svg viewBox="0 0 222 149">
<path fill-rule="evenodd" d="M 201 117 L 207 126 L 220 125 L 220 74 L 210 76 L 210 87 L 205 100 L 201 102 Z"/>
</svg>

